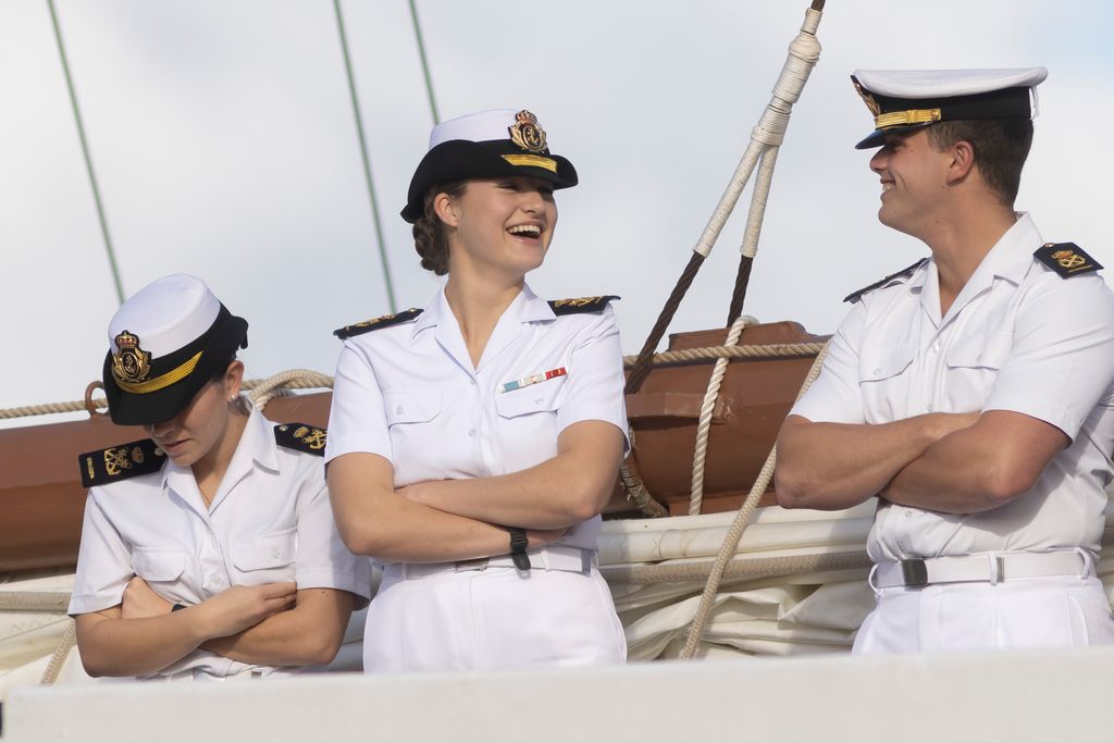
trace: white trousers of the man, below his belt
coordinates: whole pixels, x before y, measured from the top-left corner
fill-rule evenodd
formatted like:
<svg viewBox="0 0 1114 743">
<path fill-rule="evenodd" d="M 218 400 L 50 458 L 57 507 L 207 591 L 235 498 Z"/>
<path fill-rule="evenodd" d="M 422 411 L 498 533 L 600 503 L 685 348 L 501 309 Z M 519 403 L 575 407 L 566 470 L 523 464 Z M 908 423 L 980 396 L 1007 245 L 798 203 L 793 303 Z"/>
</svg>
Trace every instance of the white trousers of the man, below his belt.
<svg viewBox="0 0 1114 743">
<path fill-rule="evenodd" d="M 852 653 L 936 653 L 1114 644 L 1114 618 L 1095 577 L 883 588 Z"/>
</svg>

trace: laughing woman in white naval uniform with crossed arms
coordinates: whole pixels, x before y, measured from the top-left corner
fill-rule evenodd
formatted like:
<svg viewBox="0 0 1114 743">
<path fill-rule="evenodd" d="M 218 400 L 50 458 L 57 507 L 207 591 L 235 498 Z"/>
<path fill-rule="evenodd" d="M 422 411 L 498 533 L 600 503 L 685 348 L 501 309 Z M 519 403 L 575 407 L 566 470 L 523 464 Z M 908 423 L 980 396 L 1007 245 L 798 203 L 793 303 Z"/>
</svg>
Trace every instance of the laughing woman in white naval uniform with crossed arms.
<svg viewBox="0 0 1114 743">
<path fill-rule="evenodd" d="M 529 111 L 433 129 L 402 216 L 448 274 L 424 310 L 338 331 L 326 451 L 345 544 L 385 566 L 364 671 L 619 663 L 596 567 L 626 449 L 610 296 L 526 285 L 576 170 Z"/>
</svg>

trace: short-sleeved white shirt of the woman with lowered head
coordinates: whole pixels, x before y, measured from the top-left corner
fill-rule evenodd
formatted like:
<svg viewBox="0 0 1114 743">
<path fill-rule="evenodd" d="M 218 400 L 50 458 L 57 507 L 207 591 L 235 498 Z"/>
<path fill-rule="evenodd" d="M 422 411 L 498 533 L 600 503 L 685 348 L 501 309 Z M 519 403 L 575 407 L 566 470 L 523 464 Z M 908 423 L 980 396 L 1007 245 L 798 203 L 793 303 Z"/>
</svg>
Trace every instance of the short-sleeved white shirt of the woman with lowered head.
<svg viewBox="0 0 1114 743">
<path fill-rule="evenodd" d="M 157 472 L 91 488 L 69 613 L 116 606 L 134 575 L 186 605 L 231 586 L 283 580 L 300 590 L 346 590 L 367 605 L 371 565 L 336 532 L 321 457 L 280 447 L 273 427 L 252 411 L 208 508 L 190 469 L 169 460 Z M 186 669 L 213 676 L 295 671 L 198 649 L 155 675 Z"/>
</svg>

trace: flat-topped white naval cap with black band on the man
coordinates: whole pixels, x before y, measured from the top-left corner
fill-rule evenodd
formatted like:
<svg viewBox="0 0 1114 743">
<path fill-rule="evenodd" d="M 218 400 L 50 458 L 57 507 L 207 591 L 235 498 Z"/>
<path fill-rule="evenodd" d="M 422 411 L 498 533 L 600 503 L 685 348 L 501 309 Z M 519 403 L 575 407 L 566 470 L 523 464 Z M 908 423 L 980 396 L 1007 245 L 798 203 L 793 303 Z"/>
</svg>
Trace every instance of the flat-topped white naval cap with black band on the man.
<svg viewBox="0 0 1114 743">
<path fill-rule="evenodd" d="M 886 133 L 937 121 L 1033 118 L 1035 88 L 1047 77 L 1043 67 L 856 70 L 851 81 L 874 116 L 874 131 L 856 147 L 877 147 Z"/>
</svg>

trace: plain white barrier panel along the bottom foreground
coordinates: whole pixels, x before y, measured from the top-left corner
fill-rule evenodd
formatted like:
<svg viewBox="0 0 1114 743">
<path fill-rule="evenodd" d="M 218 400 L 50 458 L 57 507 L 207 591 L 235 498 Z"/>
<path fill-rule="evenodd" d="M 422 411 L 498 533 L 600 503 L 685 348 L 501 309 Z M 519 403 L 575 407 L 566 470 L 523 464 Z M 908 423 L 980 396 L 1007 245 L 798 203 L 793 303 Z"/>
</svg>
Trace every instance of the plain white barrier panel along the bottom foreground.
<svg viewBox="0 0 1114 743">
<path fill-rule="evenodd" d="M 12 690 L 3 743 L 1110 741 L 1114 648 Z"/>
</svg>

